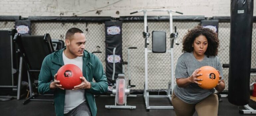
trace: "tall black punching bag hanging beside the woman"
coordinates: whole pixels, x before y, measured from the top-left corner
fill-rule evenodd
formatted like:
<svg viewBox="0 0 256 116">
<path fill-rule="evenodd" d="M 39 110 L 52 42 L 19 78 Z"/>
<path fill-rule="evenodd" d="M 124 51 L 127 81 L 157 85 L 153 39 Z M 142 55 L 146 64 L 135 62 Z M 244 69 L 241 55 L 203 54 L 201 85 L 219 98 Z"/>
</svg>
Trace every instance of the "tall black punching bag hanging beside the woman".
<svg viewBox="0 0 256 116">
<path fill-rule="evenodd" d="M 253 0 L 231 0 L 228 101 L 250 100 Z"/>
</svg>

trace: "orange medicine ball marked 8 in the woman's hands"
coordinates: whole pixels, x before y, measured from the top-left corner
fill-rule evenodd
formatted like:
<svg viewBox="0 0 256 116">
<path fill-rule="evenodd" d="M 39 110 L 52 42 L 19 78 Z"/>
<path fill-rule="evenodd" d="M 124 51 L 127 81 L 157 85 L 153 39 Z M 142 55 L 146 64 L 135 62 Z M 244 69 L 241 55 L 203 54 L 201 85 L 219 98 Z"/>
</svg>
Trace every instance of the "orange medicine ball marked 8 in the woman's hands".
<svg viewBox="0 0 256 116">
<path fill-rule="evenodd" d="M 219 83 L 218 71 L 211 66 L 203 66 L 199 69 L 201 69 L 201 71 L 199 71 L 198 74 L 203 74 L 203 75 L 197 77 L 198 79 L 202 79 L 202 81 L 197 81 L 198 83 L 202 84 L 198 86 L 204 89 L 212 89 L 216 87 L 217 84 Z"/>
</svg>

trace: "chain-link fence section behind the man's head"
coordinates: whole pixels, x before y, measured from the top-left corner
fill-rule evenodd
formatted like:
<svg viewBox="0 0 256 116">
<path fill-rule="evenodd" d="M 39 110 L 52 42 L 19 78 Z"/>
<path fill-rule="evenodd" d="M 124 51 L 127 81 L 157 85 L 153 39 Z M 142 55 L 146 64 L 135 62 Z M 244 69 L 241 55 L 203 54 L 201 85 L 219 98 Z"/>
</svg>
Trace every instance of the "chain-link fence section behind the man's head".
<svg viewBox="0 0 256 116">
<path fill-rule="evenodd" d="M 104 23 L 61 23 L 61 22 L 32 22 L 31 34 L 43 35 L 49 33 L 52 39 L 65 41 L 65 34 L 70 28 L 79 28 L 86 36 L 86 50 L 89 52 L 100 50 L 102 53 L 95 53 L 105 68 L 105 27 Z M 100 49 L 97 48 L 100 47 Z"/>
</svg>

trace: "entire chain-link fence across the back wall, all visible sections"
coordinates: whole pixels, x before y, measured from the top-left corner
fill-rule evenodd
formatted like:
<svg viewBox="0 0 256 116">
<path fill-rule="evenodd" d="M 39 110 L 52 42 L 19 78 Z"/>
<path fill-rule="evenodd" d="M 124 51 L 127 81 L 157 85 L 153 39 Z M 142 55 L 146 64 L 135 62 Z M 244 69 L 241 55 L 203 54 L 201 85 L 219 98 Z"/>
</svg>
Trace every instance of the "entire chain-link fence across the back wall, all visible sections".
<svg viewBox="0 0 256 116">
<path fill-rule="evenodd" d="M 178 42 L 180 45 L 174 45 L 174 70 L 178 57 L 182 54 L 182 38 L 188 29 L 192 29 L 200 24 L 198 21 L 174 21 L 177 27 Z M 105 61 L 105 26 L 104 23 L 67 23 L 67 22 L 31 22 L 31 34 L 43 35 L 49 33 L 52 39 L 65 40 L 65 33 L 68 29 L 76 27 L 85 32 L 87 43 L 86 50 L 89 52 L 102 51 L 95 53 L 103 63 L 106 69 Z M 14 22 L 0 21 L 0 29 L 12 29 Z M 166 32 L 166 47 L 170 49 L 170 30 L 168 21 L 148 21 L 148 31 L 153 30 Z M 143 22 L 124 22 L 123 27 L 123 60 L 128 60 L 128 47 L 137 47 L 130 49 L 129 54 L 129 71 L 131 85 L 136 85 L 131 89 L 144 89 L 144 31 Z M 229 63 L 229 39 L 230 39 L 230 23 L 219 23 L 220 48 L 218 56 L 222 64 Z M 100 49 L 97 48 L 100 46 Z M 151 36 L 149 39 L 148 49 L 152 49 Z M 256 68 L 256 23 L 253 23 L 252 34 L 252 61 L 251 68 Z M 171 64 L 170 53 L 148 53 L 148 89 L 167 89 L 168 82 L 171 80 Z M 125 66 L 126 78 L 128 79 L 128 67 Z M 223 78 L 226 83 L 225 90 L 228 90 L 228 68 L 223 69 Z M 255 82 L 256 76 L 251 76 L 250 83 Z"/>
</svg>

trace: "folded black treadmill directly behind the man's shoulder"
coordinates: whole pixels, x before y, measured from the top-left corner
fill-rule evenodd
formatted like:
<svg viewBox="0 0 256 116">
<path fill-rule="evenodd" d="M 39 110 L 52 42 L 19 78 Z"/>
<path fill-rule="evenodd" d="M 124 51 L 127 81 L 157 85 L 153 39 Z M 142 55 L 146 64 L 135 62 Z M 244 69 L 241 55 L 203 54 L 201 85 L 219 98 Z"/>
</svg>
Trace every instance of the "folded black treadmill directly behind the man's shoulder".
<svg viewBox="0 0 256 116">
<path fill-rule="evenodd" d="M 20 52 L 25 65 L 27 66 L 29 93 L 30 97 L 27 98 L 23 104 L 29 101 L 53 101 L 53 99 L 35 99 L 38 96 L 37 91 L 38 75 L 42 66 L 44 58 L 54 51 L 50 34 L 45 35 L 21 35 L 16 33 L 14 42 L 19 46 Z M 45 96 L 52 96 L 53 94 L 46 94 Z"/>
</svg>

